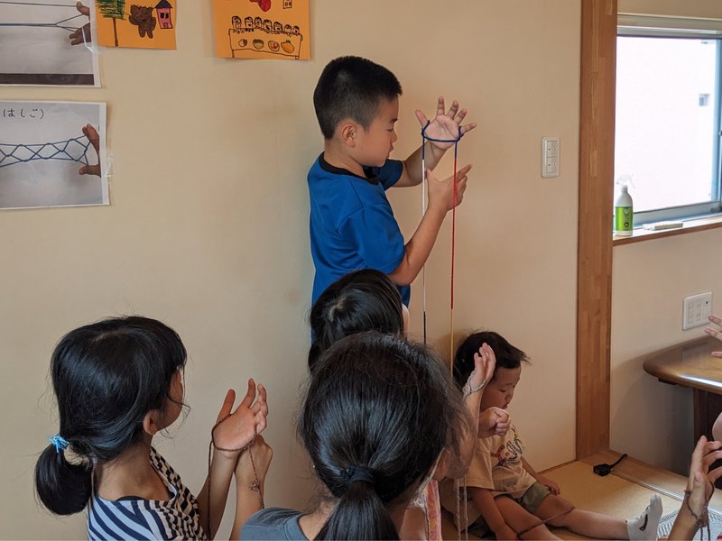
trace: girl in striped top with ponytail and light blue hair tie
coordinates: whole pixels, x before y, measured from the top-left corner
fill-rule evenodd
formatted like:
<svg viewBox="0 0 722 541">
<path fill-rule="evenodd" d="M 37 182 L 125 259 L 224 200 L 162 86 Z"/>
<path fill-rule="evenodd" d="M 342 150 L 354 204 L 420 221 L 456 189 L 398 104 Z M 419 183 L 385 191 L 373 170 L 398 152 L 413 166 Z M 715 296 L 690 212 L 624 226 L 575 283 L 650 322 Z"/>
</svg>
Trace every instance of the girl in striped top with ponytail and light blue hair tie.
<svg viewBox="0 0 722 541">
<path fill-rule="evenodd" d="M 47 509 L 71 515 L 87 508 L 89 539 L 208 538 L 235 472 L 237 536 L 241 521 L 261 508 L 262 486 L 248 482 L 248 464 L 255 458 L 264 478 L 271 459 L 260 436 L 254 457 L 245 450 L 266 426 L 266 393 L 249 381 L 232 412 L 236 394 L 228 391 L 197 500 L 152 445 L 185 406 L 185 362 L 175 331 L 146 317 L 110 318 L 63 336 L 51 359 L 60 431 L 35 466 L 35 488 Z"/>
</svg>

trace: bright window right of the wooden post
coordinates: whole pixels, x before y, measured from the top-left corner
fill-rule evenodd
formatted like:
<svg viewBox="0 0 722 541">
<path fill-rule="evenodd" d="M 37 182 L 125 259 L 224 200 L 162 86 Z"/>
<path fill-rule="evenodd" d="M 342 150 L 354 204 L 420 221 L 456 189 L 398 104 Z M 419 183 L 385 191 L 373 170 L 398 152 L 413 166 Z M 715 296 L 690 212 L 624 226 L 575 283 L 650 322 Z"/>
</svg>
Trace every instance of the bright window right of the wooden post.
<svg viewBox="0 0 722 541">
<path fill-rule="evenodd" d="M 634 225 L 719 213 L 722 21 L 620 14 L 615 197 Z"/>
</svg>

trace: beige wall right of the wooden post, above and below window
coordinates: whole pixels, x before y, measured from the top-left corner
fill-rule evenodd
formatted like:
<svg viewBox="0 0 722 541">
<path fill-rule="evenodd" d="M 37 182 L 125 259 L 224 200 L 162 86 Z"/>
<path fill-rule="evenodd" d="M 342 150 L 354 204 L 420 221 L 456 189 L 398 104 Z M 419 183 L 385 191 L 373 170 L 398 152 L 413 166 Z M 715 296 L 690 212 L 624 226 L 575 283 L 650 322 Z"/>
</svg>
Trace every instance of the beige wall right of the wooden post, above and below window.
<svg viewBox="0 0 722 541">
<path fill-rule="evenodd" d="M 619 0 L 619 11 L 722 18 L 716 0 Z M 614 249 L 611 348 L 611 446 L 685 472 L 693 445 L 691 391 L 643 371 L 641 356 L 702 335 L 681 330 L 682 299 L 722 295 L 722 231 L 685 234 Z"/>
</svg>

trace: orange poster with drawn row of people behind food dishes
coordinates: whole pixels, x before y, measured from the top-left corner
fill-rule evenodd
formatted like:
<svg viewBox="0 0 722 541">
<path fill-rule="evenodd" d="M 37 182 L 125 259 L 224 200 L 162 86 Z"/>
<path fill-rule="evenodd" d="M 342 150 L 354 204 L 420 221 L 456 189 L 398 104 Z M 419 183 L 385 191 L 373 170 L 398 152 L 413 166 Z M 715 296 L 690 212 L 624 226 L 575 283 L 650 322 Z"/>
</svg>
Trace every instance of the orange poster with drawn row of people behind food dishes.
<svg viewBox="0 0 722 541">
<path fill-rule="evenodd" d="M 309 0 L 213 0 L 216 56 L 309 60 Z"/>
</svg>

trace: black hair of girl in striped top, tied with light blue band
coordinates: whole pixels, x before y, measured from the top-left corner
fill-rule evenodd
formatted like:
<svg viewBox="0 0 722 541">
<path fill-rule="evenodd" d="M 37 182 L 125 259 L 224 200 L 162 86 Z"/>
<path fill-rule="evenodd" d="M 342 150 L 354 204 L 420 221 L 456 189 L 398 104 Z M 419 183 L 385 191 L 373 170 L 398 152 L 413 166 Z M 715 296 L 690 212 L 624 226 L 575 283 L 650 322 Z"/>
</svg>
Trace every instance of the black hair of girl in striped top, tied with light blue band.
<svg viewBox="0 0 722 541">
<path fill-rule="evenodd" d="M 84 509 L 93 464 L 122 454 L 143 436 L 143 417 L 162 409 L 186 362 L 180 337 L 140 316 L 105 319 L 60 339 L 51 359 L 60 430 L 72 455 L 48 445 L 35 465 L 35 489 L 58 515 Z"/>
</svg>

